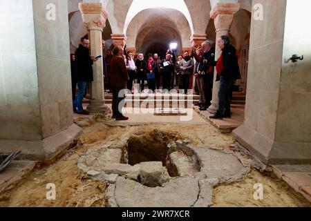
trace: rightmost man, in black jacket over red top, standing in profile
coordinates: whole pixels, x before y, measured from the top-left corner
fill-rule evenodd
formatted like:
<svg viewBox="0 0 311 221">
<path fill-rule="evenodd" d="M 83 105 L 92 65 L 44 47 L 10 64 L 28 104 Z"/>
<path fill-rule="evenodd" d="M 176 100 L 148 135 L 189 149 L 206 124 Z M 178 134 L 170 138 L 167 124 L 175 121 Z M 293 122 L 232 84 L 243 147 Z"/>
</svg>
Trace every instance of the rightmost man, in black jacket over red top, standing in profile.
<svg viewBox="0 0 311 221">
<path fill-rule="evenodd" d="M 231 93 L 234 80 L 241 79 L 240 69 L 238 68 L 238 57 L 236 48 L 230 44 L 229 37 L 223 35 L 217 42 L 223 51 L 217 61 L 217 81 L 220 81 L 218 91 L 218 110 L 211 119 L 223 119 L 231 117 Z M 225 113 L 224 113 L 225 111 Z"/>
</svg>

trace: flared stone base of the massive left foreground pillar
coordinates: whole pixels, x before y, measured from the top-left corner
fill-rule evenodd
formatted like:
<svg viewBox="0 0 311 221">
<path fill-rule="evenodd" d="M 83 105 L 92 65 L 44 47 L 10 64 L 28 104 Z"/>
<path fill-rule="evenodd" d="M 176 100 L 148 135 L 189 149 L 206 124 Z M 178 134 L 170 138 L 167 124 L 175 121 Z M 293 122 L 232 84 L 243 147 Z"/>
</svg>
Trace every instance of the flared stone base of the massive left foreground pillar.
<svg viewBox="0 0 311 221">
<path fill-rule="evenodd" d="M 72 124 L 65 131 L 44 140 L 0 140 L 1 153 L 21 151 L 20 160 L 34 160 L 49 164 L 79 140 L 82 128 Z"/>
</svg>

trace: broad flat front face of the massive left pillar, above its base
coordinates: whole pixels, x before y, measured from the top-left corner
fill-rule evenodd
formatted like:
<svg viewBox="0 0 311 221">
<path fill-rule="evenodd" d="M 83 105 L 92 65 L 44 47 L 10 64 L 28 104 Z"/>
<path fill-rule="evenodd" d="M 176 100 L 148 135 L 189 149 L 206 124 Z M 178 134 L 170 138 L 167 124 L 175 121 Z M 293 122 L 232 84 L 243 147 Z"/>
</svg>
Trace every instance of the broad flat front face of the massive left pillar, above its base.
<svg viewBox="0 0 311 221">
<path fill-rule="evenodd" d="M 32 0 L 0 1 L 0 140 L 41 140 Z"/>
</svg>

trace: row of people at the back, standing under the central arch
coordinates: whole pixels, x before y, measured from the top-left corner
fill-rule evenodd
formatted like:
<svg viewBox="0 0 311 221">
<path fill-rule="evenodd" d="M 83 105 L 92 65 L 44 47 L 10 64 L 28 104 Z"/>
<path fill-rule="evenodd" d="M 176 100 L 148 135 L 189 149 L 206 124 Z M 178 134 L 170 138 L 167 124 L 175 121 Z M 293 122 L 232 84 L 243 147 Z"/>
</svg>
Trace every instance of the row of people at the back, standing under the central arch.
<svg viewBox="0 0 311 221">
<path fill-rule="evenodd" d="M 144 90 L 147 81 L 149 93 L 154 93 L 160 89 L 162 91 L 170 91 L 174 88 L 177 82 L 179 89 L 184 89 L 187 93 L 189 89 L 189 80 L 194 69 L 194 59 L 192 59 L 188 52 L 185 52 L 184 57 L 176 57 L 167 50 L 165 59 L 160 59 L 158 54 L 149 54 L 147 61 L 144 60 L 142 53 L 138 54 L 138 58 L 134 61 L 133 53 L 127 52 L 124 55 L 124 62 L 126 70 L 129 75 L 129 81 L 126 88 L 131 92 L 133 90 L 133 82 L 137 80 L 140 92 Z"/>
</svg>

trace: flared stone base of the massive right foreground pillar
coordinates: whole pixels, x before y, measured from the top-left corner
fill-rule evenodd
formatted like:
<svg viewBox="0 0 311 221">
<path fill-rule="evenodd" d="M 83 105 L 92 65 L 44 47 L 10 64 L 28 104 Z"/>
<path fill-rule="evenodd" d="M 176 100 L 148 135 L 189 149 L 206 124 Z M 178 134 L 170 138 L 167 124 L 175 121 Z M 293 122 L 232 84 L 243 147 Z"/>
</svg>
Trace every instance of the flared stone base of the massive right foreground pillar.
<svg viewBox="0 0 311 221">
<path fill-rule="evenodd" d="M 237 142 L 265 164 L 311 163 L 311 143 L 274 141 L 245 124 L 236 128 L 232 133 Z"/>
</svg>

